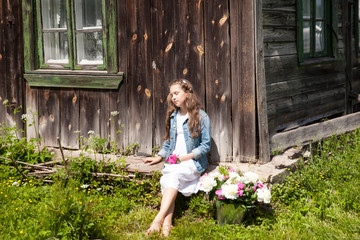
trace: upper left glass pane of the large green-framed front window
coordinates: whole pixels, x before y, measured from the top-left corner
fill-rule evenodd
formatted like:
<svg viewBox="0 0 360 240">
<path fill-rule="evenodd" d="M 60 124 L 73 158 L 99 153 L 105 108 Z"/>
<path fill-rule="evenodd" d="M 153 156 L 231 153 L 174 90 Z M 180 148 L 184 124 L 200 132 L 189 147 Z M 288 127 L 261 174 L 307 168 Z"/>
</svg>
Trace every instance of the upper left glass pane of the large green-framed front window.
<svg viewBox="0 0 360 240">
<path fill-rule="evenodd" d="M 42 0 L 43 29 L 66 28 L 65 0 Z"/>
</svg>

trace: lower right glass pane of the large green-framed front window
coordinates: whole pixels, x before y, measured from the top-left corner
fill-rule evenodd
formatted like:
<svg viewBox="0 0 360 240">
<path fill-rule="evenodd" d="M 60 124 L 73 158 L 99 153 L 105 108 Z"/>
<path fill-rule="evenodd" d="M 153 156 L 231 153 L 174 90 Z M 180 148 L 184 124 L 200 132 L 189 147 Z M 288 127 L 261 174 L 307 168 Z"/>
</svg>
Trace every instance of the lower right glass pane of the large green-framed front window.
<svg viewBox="0 0 360 240">
<path fill-rule="evenodd" d="M 81 65 L 103 64 L 103 33 L 86 32 L 76 34 L 77 63 Z"/>
</svg>

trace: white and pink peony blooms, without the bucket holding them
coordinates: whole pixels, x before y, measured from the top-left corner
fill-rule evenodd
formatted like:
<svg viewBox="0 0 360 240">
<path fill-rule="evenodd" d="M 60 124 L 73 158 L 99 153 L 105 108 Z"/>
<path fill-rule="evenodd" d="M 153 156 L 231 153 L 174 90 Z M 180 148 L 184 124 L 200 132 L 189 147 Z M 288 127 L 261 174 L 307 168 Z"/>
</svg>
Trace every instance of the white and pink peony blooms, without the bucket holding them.
<svg viewBox="0 0 360 240">
<path fill-rule="evenodd" d="M 259 203 L 270 203 L 270 190 L 254 172 L 240 176 L 234 169 L 220 167 L 219 171 L 205 173 L 200 178 L 200 190 L 217 200 L 234 201 L 252 207 Z"/>
</svg>

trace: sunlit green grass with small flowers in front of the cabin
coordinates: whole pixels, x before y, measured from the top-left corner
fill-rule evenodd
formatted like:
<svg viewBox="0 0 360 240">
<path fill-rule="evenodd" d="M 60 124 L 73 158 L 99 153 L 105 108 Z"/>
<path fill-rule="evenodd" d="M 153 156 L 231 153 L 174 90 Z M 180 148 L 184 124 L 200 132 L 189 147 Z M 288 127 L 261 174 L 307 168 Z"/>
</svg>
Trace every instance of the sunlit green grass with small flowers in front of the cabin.
<svg viewBox="0 0 360 240">
<path fill-rule="evenodd" d="M 322 141 L 314 152 L 273 186 L 271 206 L 254 209 L 242 225 L 218 225 L 203 194 L 179 196 L 169 239 L 360 239 L 360 130 Z M 138 180 L 21 182 L 2 161 L 0 238 L 159 239 L 145 236 L 161 200 L 159 175 Z"/>
</svg>

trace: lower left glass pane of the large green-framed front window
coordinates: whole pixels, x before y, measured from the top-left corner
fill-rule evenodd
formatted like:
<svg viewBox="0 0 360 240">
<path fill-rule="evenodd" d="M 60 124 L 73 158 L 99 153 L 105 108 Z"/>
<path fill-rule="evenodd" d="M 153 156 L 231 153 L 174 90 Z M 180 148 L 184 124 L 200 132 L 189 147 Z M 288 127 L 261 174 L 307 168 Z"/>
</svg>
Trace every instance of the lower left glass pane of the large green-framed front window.
<svg viewBox="0 0 360 240">
<path fill-rule="evenodd" d="M 45 63 L 68 64 L 68 38 L 65 32 L 44 33 Z"/>
</svg>

